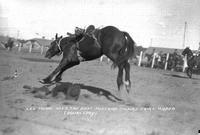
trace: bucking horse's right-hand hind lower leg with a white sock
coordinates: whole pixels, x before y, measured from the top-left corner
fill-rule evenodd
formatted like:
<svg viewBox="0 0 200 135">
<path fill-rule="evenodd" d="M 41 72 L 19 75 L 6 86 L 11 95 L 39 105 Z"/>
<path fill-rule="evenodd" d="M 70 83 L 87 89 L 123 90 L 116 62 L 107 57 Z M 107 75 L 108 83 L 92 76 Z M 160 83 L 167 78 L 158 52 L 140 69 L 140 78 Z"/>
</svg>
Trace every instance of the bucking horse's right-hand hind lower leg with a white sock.
<svg viewBox="0 0 200 135">
<path fill-rule="evenodd" d="M 131 89 L 131 81 L 130 81 L 130 64 L 128 63 L 128 61 L 125 62 L 124 64 L 124 69 L 125 69 L 125 86 L 126 86 L 126 90 L 129 93 L 130 89 Z"/>
</svg>

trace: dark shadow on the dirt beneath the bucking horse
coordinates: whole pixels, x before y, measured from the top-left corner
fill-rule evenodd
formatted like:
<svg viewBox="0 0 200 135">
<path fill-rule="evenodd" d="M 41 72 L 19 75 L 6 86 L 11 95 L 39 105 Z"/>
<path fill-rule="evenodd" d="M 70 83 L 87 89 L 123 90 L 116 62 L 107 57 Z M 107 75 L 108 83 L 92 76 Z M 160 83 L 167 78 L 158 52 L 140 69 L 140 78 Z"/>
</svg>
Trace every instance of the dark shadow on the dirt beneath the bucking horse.
<svg viewBox="0 0 200 135">
<path fill-rule="evenodd" d="M 34 94 L 34 97 L 41 99 L 49 98 L 49 95 L 51 95 L 52 97 L 56 97 L 58 93 L 61 92 L 65 95 L 65 99 L 78 100 L 80 96 L 80 91 L 87 90 L 98 96 L 104 96 L 112 102 L 122 101 L 108 90 L 78 83 L 73 84 L 70 82 L 59 82 L 56 84 L 44 84 L 42 87 L 31 87 L 28 85 L 24 85 L 23 88 L 27 92 Z"/>
</svg>

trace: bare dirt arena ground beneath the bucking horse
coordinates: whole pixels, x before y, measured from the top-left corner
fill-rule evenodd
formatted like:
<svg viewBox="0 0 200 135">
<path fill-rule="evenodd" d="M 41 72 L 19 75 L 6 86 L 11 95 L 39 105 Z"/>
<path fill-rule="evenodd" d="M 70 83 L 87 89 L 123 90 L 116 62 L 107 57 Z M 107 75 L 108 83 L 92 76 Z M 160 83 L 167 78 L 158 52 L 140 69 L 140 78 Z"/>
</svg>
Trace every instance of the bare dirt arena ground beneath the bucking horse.
<svg viewBox="0 0 200 135">
<path fill-rule="evenodd" d="M 0 135 L 197 135 L 200 130 L 200 76 L 132 65 L 131 93 L 122 91 L 121 102 L 117 69 L 84 62 L 67 70 L 60 84 L 80 87 L 75 101 L 62 91 L 47 94 L 53 88 L 38 82 L 59 59 L 0 50 Z"/>
</svg>

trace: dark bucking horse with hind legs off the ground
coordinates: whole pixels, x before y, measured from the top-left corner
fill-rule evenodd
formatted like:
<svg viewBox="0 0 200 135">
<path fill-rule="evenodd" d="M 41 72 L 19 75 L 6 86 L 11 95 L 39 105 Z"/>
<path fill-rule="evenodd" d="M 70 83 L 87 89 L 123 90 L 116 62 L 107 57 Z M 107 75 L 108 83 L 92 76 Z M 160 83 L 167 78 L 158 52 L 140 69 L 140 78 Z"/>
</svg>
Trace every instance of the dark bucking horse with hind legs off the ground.
<svg viewBox="0 0 200 135">
<path fill-rule="evenodd" d="M 94 32 L 93 38 L 88 34 L 79 34 L 76 37 L 57 37 L 51 43 L 45 57 L 51 58 L 63 52 L 63 58 L 58 67 L 42 83 L 61 81 L 62 73 L 82 61 L 90 61 L 106 55 L 113 61 L 113 67 L 118 67 L 117 85 L 120 90 L 125 83 L 126 90 L 131 88 L 130 64 L 128 59 L 134 56 L 135 42 L 127 32 L 122 32 L 116 27 L 107 26 Z M 123 81 L 125 70 L 125 81 Z"/>
</svg>

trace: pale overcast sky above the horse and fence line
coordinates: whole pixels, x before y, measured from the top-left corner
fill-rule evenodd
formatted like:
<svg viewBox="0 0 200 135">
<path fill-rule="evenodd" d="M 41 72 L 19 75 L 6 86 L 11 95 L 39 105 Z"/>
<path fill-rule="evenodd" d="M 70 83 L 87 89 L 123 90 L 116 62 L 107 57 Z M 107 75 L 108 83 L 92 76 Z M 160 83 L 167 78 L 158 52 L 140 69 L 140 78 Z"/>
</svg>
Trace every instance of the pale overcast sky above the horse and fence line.
<svg viewBox="0 0 200 135">
<path fill-rule="evenodd" d="M 74 28 L 113 25 L 138 45 L 182 48 L 200 42 L 200 0 L 1 0 L 0 34 L 52 38 Z M 36 34 L 38 33 L 38 34 Z"/>
</svg>

